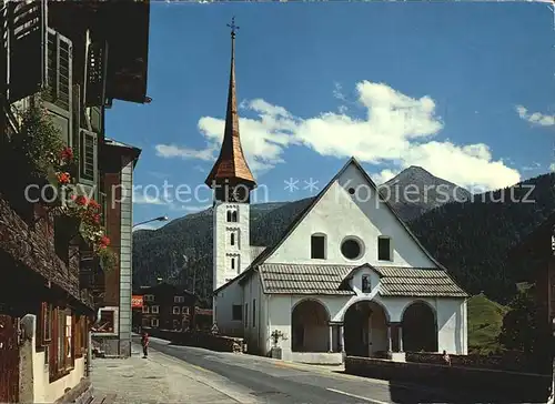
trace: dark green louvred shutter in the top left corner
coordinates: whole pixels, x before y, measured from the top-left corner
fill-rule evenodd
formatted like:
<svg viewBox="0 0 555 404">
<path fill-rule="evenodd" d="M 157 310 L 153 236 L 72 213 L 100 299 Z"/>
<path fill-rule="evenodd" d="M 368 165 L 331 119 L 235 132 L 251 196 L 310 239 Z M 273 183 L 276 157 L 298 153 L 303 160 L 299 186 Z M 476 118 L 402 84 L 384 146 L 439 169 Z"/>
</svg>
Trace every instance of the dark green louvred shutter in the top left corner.
<svg viewBox="0 0 555 404">
<path fill-rule="evenodd" d="M 44 82 L 47 0 L 10 1 L 6 9 L 10 102 L 34 94 Z"/>
</svg>

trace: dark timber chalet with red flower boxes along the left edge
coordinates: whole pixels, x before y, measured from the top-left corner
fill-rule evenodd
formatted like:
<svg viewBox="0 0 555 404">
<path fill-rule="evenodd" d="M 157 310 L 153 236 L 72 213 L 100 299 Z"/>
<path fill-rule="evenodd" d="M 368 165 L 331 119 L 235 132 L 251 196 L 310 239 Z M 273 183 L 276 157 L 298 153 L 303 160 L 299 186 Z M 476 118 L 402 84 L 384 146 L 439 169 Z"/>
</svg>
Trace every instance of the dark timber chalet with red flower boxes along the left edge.
<svg viewBox="0 0 555 404">
<path fill-rule="evenodd" d="M 113 271 L 105 282 L 130 295 L 130 236 L 104 230 L 105 178 L 118 165 L 111 148 L 120 183 L 138 152 L 107 141 L 104 113 L 113 100 L 150 101 L 149 11 L 148 1 L 0 0 L 2 403 L 91 394 L 90 327 L 105 295 L 93 281 Z M 120 205 L 124 228 L 131 211 Z"/>
</svg>

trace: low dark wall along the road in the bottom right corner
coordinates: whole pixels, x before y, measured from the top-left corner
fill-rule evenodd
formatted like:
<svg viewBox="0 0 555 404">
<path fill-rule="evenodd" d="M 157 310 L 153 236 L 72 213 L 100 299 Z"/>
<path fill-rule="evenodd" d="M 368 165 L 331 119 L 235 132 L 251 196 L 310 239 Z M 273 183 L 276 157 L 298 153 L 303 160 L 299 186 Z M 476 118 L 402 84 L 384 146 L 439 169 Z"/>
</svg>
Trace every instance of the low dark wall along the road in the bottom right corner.
<svg viewBox="0 0 555 404">
<path fill-rule="evenodd" d="M 471 395 L 473 401 L 546 402 L 551 384 L 551 377 L 546 375 L 356 356 L 345 358 L 345 372 L 386 381 L 432 385 L 461 392 L 462 397 L 468 398 Z"/>
</svg>

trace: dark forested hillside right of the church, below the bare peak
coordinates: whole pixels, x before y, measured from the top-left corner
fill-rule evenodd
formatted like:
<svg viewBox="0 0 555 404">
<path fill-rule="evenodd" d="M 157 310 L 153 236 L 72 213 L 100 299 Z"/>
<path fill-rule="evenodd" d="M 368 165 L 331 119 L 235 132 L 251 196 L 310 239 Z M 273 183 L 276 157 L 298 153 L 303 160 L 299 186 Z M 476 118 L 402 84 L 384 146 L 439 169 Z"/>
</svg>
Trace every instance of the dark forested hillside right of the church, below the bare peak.
<svg viewBox="0 0 555 404">
<path fill-rule="evenodd" d="M 554 211 L 552 173 L 474 195 L 473 201 L 444 204 L 410 226 L 467 292 L 484 292 L 507 303 L 516 292 L 516 282 L 531 275 L 531 269 L 507 260 L 508 250 Z"/>
</svg>

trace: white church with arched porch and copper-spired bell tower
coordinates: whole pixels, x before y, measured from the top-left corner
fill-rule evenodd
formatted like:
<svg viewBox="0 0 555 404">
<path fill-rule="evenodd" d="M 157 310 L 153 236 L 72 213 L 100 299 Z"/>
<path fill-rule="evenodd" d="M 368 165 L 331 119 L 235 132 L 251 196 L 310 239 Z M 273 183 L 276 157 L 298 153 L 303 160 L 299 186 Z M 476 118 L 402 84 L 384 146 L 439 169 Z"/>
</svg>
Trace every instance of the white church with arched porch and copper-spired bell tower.
<svg viewBox="0 0 555 404">
<path fill-rule="evenodd" d="M 250 244 L 256 181 L 241 147 L 235 27 L 214 190 L 213 321 L 249 352 L 303 363 L 467 354 L 467 294 L 351 158 L 274 245 Z"/>
</svg>

